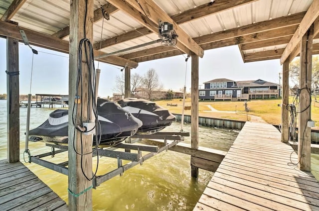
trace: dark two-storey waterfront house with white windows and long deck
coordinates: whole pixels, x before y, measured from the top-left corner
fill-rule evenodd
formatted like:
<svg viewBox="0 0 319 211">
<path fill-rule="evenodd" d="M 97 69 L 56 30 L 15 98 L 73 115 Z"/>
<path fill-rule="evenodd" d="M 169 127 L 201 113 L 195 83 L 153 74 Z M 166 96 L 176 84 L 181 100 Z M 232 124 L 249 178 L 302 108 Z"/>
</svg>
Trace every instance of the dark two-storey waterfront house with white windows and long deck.
<svg viewBox="0 0 319 211">
<path fill-rule="evenodd" d="M 280 97 L 280 85 L 261 79 L 233 81 L 220 78 L 204 82 L 199 89 L 200 100 L 249 100 Z"/>
</svg>

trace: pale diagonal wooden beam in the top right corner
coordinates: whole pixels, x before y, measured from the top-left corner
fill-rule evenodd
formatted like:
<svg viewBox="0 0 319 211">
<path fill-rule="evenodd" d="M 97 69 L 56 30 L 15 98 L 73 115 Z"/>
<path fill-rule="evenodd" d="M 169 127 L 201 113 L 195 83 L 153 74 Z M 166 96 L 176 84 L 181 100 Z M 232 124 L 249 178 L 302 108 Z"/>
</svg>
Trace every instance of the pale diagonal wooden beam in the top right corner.
<svg viewBox="0 0 319 211">
<path fill-rule="evenodd" d="M 280 58 L 280 64 L 283 64 L 286 61 L 288 56 L 290 56 L 292 51 L 300 42 L 301 38 L 308 31 L 309 27 L 318 18 L 319 16 L 318 8 L 319 8 L 319 0 L 313 0 L 313 3 L 310 5 L 308 11 L 305 14 L 305 17 L 301 21 L 297 31 L 295 32 L 294 36 L 292 37 L 289 44 L 287 45 L 282 57 Z"/>
</svg>

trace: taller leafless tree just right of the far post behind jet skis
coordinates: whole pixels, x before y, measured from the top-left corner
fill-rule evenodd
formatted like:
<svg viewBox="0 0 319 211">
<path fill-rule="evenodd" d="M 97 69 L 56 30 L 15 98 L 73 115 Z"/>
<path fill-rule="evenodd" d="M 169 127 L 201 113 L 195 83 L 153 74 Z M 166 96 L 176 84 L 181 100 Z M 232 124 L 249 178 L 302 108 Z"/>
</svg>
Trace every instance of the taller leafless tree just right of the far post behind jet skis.
<svg viewBox="0 0 319 211">
<path fill-rule="evenodd" d="M 148 100 L 154 98 L 156 95 L 156 91 L 160 91 L 162 89 L 162 84 L 159 81 L 159 75 L 153 68 L 148 70 L 148 72 L 144 75 L 142 84 L 148 96 Z"/>
</svg>

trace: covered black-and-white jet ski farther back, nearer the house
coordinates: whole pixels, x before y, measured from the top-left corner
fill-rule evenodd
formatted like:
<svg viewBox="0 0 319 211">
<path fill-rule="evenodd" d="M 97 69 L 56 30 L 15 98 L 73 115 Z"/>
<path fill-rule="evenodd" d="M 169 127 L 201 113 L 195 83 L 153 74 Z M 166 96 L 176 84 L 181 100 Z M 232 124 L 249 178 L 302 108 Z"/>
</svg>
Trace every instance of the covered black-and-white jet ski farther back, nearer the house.
<svg viewBox="0 0 319 211">
<path fill-rule="evenodd" d="M 143 122 L 137 133 L 156 133 L 176 119 L 169 110 L 152 101 L 126 98 L 118 101 L 118 104 Z"/>
</svg>

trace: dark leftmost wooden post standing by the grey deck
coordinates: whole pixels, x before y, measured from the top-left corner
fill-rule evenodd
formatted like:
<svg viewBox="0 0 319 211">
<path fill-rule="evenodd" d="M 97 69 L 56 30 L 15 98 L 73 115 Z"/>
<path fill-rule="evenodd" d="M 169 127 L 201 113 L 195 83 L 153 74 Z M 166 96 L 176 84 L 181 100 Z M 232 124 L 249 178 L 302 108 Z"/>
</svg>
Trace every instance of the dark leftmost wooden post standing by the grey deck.
<svg viewBox="0 0 319 211">
<path fill-rule="evenodd" d="M 6 38 L 6 67 L 7 67 L 7 161 L 19 161 L 19 41 Z"/>
</svg>

